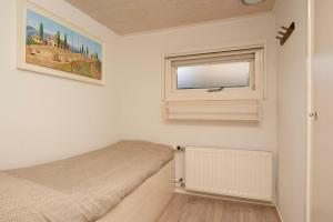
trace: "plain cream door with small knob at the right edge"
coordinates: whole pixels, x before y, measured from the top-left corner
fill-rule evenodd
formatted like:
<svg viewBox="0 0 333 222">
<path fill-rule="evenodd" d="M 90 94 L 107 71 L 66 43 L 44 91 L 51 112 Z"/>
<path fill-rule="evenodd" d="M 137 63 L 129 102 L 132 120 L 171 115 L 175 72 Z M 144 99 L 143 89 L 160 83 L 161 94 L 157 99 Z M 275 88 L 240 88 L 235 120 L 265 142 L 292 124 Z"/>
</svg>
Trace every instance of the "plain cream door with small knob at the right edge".
<svg viewBox="0 0 333 222">
<path fill-rule="evenodd" d="M 333 1 L 314 1 L 314 122 L 312 222 L 333 221 Z"/>
</svg>

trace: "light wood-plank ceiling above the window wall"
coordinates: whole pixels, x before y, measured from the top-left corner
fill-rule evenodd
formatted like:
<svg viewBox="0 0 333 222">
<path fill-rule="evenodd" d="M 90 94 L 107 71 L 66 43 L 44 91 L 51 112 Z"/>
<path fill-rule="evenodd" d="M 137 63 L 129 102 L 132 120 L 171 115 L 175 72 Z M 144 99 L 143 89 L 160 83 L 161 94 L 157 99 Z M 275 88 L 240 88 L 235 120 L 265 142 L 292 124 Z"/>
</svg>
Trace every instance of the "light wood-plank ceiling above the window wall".
<svg viewBox="0 0 333 222">
<path fill-rule="evenodd" d="M 242 17 L 273 9 L 274 0 L 67 0 L 119 34 Z"/>
</svg>

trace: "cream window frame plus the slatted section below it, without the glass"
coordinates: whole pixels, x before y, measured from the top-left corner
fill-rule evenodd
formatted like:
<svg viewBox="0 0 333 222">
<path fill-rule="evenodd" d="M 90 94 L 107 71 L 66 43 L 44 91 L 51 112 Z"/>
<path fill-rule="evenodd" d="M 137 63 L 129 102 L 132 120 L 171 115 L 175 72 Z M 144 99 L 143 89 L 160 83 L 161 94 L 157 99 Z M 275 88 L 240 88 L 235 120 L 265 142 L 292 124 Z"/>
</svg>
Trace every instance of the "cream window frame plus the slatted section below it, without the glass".
<svg viewBox="0 0 333 222">
<path fill-rule="evenodd" d="M 176 88 L 178 65 L 195 65 L 192 61 L 205 62 L 205 60 L 216 58 L 219 60 L 226 58 L 228 61 L 228 58 L 243 58 L 249 53 L 254 54 L 252 67 L 254 71 L 250 73 L 250 78 L 252 78 L 250 87 L 224 88 L 215 92 L 208 92 L 208 89 Z M 266 43 L 264 40 L 209 50 L 164 54 L 164 119 L 260 121 L 261 101 L 265 99 L 265 54 Z M 188 63 L 189 61 L 190 63 Z"/>
</svg>

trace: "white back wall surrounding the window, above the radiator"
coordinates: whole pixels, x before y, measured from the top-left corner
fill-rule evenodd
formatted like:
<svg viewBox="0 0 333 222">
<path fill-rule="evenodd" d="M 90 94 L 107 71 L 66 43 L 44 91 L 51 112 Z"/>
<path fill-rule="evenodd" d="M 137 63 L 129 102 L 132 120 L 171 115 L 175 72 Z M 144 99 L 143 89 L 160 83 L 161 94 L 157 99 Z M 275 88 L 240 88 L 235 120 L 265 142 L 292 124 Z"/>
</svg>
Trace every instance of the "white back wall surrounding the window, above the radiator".
<svg viewBox="0 0 333 222">
<path fill-rule="evenodd" d="M 168 144 L 226 145 L 275 151 L 276 77 L 272 13 L 124 37 L 118 90 L 120 135 Z M 268 40 L 268 99 L 262 122 L 164 122 L 163 53 Z"/>
</svg>

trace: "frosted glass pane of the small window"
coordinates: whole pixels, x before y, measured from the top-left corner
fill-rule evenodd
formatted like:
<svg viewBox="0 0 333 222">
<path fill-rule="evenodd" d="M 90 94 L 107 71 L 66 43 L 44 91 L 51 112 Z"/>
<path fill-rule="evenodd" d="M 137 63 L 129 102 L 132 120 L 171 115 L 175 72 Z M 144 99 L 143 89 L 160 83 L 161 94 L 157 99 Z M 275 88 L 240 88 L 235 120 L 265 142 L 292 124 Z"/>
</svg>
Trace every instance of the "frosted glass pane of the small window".
<svg viewBox="0 0 333 222">
<path fill-rule="evenodd" d="M 178 89 L 250 87 L 250 62 L 230 62 L 178 68 Z"/>
</svg>

